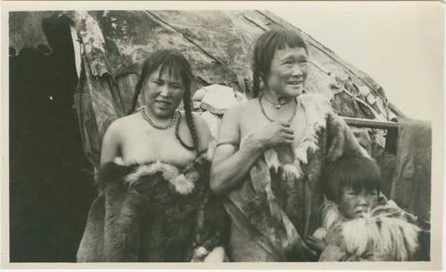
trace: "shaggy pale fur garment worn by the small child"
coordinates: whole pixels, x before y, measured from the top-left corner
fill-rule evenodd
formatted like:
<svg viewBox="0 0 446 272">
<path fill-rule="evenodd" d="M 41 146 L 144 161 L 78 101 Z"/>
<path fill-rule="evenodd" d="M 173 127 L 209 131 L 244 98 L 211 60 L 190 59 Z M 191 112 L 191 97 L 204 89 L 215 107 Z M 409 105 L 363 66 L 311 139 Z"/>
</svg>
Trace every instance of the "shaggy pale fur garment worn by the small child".
<svg viewBox="0 0 446 272">
<path fill-rule="evenodd" d="M 320 261 L 411 260 L 417 251 L 420 229 L 392 201 L 351 220 L 325 202 L 323 214 L 326 235 L 318 238 L 327 246 Z"/>
</svg>

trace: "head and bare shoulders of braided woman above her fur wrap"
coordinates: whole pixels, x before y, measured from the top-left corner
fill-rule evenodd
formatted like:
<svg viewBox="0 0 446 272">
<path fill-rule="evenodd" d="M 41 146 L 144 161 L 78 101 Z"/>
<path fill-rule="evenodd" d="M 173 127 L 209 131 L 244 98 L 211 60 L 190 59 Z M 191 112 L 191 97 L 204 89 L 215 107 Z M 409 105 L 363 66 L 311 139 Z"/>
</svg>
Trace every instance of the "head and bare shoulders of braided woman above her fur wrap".
<svg viewBox="0 0 446 272">
<path fill-rule="evenodd" d="M 160 160 L 184 167 L 206 151 L 211 137 L 200 116 L 192 115 L 192 80 L 190 65 L 178 52 L 150 56 L 136 84 L 131 114 L 114 121 L 103 138 L 101 164 L 120 156 L 126 163 Z M 139 96 L 143 106 L 133 112 Z M 178 111 L 182 99 L 184 112 Z"/>
</svg>

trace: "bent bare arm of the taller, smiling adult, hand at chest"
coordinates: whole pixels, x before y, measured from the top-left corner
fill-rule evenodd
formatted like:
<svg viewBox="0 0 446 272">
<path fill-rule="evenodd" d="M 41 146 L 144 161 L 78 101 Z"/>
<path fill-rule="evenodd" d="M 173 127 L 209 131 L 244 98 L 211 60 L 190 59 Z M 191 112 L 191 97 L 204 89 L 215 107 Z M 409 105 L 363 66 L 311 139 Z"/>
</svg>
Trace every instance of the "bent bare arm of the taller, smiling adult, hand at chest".
<svg viewBox="0 0 446 272">
<path fill-rule="evenodd" d="M 219 143 L 240 143 L 239 111 L 240 106 L 227 110 L 219 132 Z M 244 141 L 238 150 L 233 144 L 217 146 L 211 166 L 211 190 L 215 194 L 227 194 L 239 185 L 252 164 L 271 145 L 292 143 L 293 131 L 284 125 L 271 123 Z"/>
</svg>

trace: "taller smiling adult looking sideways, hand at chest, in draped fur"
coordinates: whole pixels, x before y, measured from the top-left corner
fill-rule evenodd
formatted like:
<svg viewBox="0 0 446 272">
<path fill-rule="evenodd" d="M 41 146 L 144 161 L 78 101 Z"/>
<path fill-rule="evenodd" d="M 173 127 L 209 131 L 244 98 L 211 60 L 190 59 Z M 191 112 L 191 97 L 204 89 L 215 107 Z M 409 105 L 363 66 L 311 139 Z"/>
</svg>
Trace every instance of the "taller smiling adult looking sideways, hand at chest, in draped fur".
<svg viewBox="0 0 446 272">
<path fill-rule="evenodd" d="M 255 98 L 227 110 L 211 167 L 232 218 L 229 259 L 316 260 L 302 237 L 318 227 L 324 164 L 368 154 L 324 97 L 304 93 L 309 53 L 296 33 L 262 34 L 252 70 Z"/>
</svg>

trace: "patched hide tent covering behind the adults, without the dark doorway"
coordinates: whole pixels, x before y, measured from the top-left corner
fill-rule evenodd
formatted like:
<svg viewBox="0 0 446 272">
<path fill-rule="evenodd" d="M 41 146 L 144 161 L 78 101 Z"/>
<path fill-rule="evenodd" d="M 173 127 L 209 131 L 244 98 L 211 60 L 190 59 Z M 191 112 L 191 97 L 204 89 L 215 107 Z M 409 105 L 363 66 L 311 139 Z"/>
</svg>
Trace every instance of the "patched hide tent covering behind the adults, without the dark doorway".
<svg viewBox="0 0 446 272">
<path fill-rule="evenodd" d="M 128 111 L 145 56 L 159 48 L 176 48 L 192 62 L 197 87 L 219 83 L 249 96 L 251 46 L 267 29 L 293 29 L 304 37 L 310 49 L 306 90 L 334 98 L 334 108 L 341 115 L 390 120 L 401 114 L 366 73 L 271 12 L 14 12 L 10 46 L 16 52 L 26 46 L 51 47 L 38 23 L 48 17 L 54 18 L 53 24 L 70 24 L 81 78 L 76 110 L 87 157 L 96 166 L 100 139 L 111 120 Z"/>
</svg>

